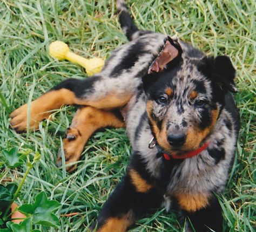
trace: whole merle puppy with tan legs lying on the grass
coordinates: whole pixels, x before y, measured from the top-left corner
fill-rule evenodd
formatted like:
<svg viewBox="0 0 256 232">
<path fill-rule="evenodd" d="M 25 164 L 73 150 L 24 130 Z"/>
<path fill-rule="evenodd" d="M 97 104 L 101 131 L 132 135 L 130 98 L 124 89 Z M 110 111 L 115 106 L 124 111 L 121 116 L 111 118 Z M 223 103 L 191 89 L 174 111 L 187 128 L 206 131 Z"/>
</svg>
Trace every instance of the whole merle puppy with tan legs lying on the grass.
<svg viewBox="0 0 256 232">
<path fill-rule="evenodd" d="M 133 155 L 97 231 L 126 231 L 163 202 L 189 218 L 186 231 L 221 231 L 216 194 L 225 187 L 239 131 L 234 67 L 228 57 L 207 57 L 176 36 L 138 30 L 123 1 L 117 6 L 130 42 L 113 51 L 99 74 L 65 80 L 32 101 L 29 126 L 38 128 L 64 104 L 80 105 L 64 140 L 69 171 L 98 128 L 126 126 Z M 11 113 L 18 132 L 27 115 L 28 105 Z"/>
</svg>

